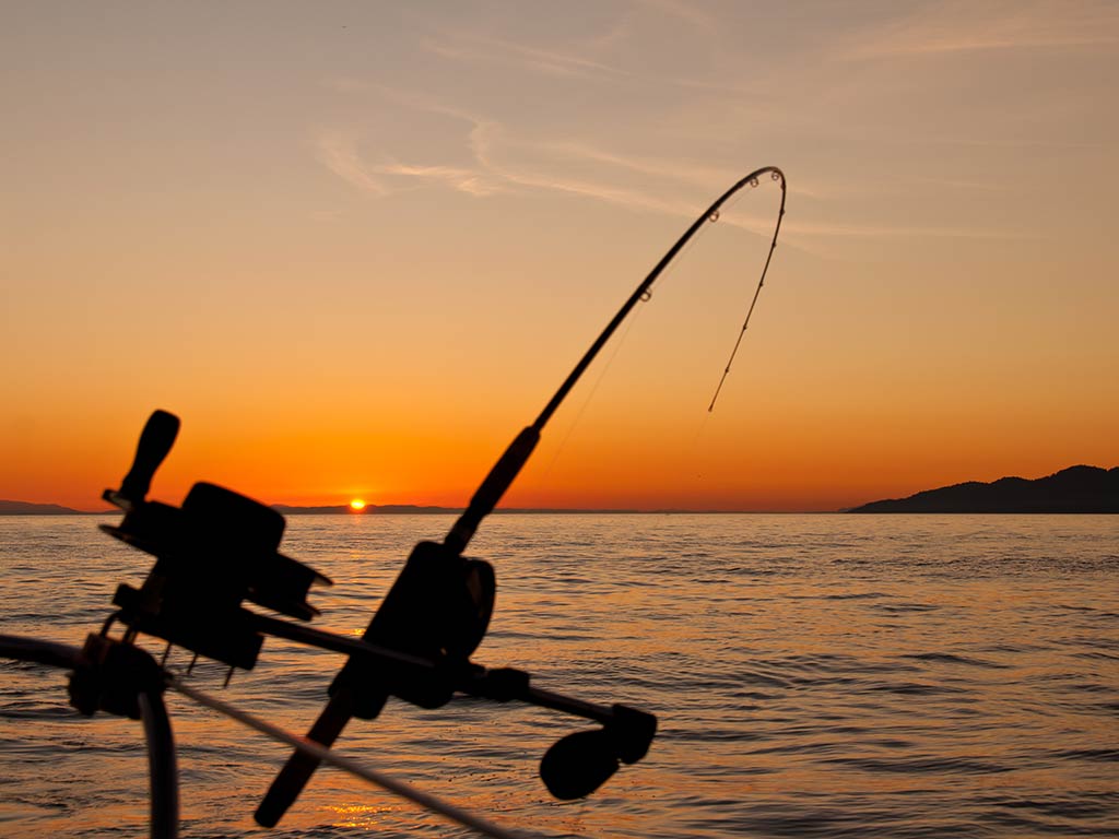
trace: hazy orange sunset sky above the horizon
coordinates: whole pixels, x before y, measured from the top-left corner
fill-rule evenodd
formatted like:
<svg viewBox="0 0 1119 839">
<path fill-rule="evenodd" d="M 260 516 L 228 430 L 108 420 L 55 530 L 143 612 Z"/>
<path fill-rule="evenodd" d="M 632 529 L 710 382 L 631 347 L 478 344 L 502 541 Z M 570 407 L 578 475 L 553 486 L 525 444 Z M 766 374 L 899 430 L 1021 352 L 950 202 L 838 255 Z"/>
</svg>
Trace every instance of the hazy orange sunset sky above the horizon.
<svg viewBox="0 0 1119 839">
<path fill-rule="evenodd" d="M 1106 2 L 15 6 L 0 498 L 97 508 L 162 407 L 163 500 L 464 503 L 764 164 L 788 216 L 715 413 L 770 182 L 508 505 L 836 509 L 1117 465 L 1116 89 Z"/>
</svg>

